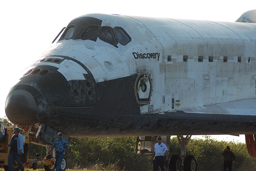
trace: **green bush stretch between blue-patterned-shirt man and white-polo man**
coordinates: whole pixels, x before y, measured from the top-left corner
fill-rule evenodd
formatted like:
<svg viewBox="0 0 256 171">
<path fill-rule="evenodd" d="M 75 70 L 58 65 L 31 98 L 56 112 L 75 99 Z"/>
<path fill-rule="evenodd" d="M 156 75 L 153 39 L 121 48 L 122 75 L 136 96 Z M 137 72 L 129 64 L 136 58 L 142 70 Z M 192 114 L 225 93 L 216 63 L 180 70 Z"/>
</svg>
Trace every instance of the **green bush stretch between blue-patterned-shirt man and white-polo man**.
<svg viewBox="0 0 256 171">
<path fill-rule="evenodd" d="M 151 156 L 138 157 L 136 137 L 72 138 L 69 168 L 86 168 L 96 162 L 110 166 L 118 161 L 120 170 L 150 170 Z"/>
</svg>

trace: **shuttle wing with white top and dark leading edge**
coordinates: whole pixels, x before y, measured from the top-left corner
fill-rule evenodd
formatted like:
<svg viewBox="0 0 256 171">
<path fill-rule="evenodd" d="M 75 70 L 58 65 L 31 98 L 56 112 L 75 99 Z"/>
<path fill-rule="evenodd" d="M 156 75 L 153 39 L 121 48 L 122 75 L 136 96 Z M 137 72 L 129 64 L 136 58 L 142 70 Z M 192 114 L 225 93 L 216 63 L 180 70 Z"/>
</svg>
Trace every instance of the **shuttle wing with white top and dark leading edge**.
<svg viewBox="0 0 256 171">
<path fill-rule="evenodd" d="M 256 99 L 253 98 L 153 115 L 158 118 L 158 125 L 163 124 L 168 128 L 169 135 L 254 134 L 255 104 Z M 163 129 L 165 130 L 164 127 Z"/>
</svg>

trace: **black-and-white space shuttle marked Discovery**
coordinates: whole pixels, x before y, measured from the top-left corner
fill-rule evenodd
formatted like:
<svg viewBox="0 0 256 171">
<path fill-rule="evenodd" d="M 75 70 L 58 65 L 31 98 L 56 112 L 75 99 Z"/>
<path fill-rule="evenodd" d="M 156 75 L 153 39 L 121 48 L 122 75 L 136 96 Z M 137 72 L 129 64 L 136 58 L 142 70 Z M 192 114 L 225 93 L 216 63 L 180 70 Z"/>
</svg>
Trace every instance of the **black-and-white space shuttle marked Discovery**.
<svg viewBox="0 0 256 171">
<path fill-rule="evenodd" d="M 184 145 L 191 135 L 245 134 L 256 158 L 255 22 L 256 10 L 236 22 L 77 17 L 10 89 L 6 116 L 48 144 L 59 131 Z M 169 167 L 196 164 L 188 158 Z"/>
</svg>

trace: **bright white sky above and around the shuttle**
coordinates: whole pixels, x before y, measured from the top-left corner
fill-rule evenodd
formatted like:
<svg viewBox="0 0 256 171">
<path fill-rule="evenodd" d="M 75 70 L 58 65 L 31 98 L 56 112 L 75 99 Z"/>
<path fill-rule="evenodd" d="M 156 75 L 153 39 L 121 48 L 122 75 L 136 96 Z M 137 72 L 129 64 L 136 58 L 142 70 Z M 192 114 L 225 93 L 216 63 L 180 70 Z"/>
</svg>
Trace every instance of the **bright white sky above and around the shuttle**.
<svg viewBox="0 0 256 171">
<path fill-rule="evenodd" d="M 0 117 L 5 115 L 8 91 L 26 72 L 24 69 L 42 54 L 69 21 L 80 15 L 105 13 L 234 22 L 242 13 L 253 9 L 256 9 L 254 0 L 1 1 Z M 228 141 L 244 142 L 244 135 L 242 137 L 228 136 Z"/>
</svg>

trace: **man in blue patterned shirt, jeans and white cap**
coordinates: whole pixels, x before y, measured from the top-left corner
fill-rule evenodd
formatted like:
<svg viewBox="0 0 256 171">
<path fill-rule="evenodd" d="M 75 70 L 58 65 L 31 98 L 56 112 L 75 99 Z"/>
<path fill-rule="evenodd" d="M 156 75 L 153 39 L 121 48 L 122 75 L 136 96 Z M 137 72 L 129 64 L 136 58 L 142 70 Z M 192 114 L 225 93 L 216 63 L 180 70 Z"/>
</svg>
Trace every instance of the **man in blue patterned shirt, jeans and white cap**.
<svg viewBox="0 0 256 171">
<path fill-rule="evenodd" d="M 68 151 L 68 143 L 67 141 L 62 138 L 62 133 L 58 133 L 58 138 L 54 140 L 52 143 L 52 148 L 49 153 L 52 152 L 53 148 L 55 147 L 55 161 L 57 162 L 56 165 L 56 171 L 61 171 L 61 163 L 64 156 L 64 151 L 67 150 L 67 157 L 69 157 L 69 151 Z"/>
</svg>

